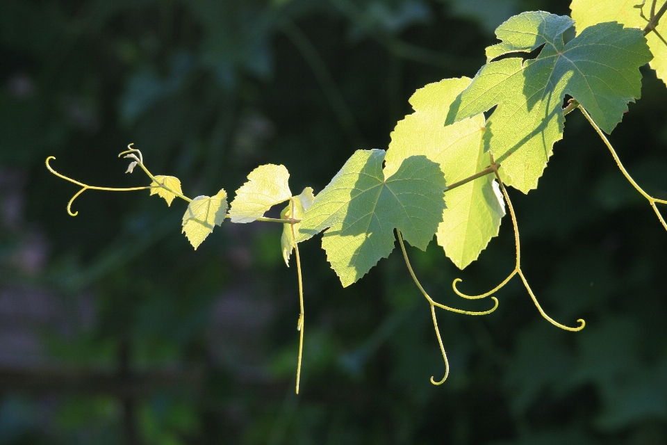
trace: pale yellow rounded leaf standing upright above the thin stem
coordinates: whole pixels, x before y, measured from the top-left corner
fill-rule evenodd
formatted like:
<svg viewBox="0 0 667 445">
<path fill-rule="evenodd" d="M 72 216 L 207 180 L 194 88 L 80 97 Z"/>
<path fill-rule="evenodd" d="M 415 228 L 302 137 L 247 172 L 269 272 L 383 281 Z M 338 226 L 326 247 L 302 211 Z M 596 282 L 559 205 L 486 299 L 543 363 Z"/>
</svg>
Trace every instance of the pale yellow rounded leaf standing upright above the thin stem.
<svg viewBox="0 0 667 445">
<path fill-rule="evenodd" d="M 260 165 L 248 175 L 249 181 L 237 191 L 231 202 L 229 216 L 232 223 L 252 223 L 265 211 L 292 196 L 284 165 Z"/>
</svg>

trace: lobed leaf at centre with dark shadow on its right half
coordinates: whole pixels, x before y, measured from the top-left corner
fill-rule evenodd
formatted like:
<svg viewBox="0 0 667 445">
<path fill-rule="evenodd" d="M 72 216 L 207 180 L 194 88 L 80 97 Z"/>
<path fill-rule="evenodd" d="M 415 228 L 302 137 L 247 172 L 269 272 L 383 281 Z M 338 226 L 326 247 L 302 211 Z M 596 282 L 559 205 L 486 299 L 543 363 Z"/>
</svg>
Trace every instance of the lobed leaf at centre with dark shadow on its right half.
<svg viewBox="0 0 667 445">
<path fill-rule="evenodd" d="M 306 211 L 297 242 L 329 229 L 322 248 L 343 286 L 363 277 L 394 248 L 394 229 L 425 250 L 443 218 L 445 175 L 426 156 L 410 156 L 386 177 L 384 150 L 357 150 Z"/>
</svg>

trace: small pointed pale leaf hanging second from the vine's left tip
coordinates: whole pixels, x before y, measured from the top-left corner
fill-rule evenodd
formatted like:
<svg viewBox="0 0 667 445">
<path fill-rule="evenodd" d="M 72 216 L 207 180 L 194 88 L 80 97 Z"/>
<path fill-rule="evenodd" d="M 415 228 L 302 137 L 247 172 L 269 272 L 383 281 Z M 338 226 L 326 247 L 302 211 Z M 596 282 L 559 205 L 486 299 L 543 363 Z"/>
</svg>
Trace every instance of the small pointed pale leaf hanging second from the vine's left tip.
<svg viewBox="0 0 667 445">
<path fill-rule="evenodd" d="M 201 241 L 221 225 L 227 211 L 227 192 L 222 188 L 215 196 L 197 196 L 183 215 L 183 232 L 197 250 Z"/>
</svg>

